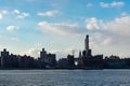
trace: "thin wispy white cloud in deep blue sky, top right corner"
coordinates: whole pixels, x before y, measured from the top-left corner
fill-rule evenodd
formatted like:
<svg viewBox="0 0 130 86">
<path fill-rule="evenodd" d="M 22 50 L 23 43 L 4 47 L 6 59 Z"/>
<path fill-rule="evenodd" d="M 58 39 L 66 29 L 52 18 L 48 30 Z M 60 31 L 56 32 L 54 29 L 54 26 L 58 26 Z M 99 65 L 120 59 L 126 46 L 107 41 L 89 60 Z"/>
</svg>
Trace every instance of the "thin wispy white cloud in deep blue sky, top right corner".
<svg viewBox="0 0 130 86">
<path fill-rule="evenodd" d="M 116 8 L 116 6 L 122 6 L 125 5 L 125 2 L 117 2 L 117 1 L 113 1 L 112 3 L 105 3 L 105 2 L 100 2 L 100 6 L 102 8 Z"/>
</svg>

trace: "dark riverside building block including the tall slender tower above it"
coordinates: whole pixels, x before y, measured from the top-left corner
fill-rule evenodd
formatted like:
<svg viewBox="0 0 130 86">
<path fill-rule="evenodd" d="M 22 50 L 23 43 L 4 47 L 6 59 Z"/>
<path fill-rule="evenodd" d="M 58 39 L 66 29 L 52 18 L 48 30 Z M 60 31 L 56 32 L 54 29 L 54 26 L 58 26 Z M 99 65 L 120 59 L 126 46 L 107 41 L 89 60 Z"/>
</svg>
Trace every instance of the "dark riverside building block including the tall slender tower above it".
<svg viewBox="0 0 130 86">
<path fill-rule="evenodd" d="M 102 69 L 103 68 L 103 55 L 92 56 L 89 48 L 89 35 L 84 39 L 84 51 L 79 53 L 79 67 L 84 69 Z"/>
</svg>

